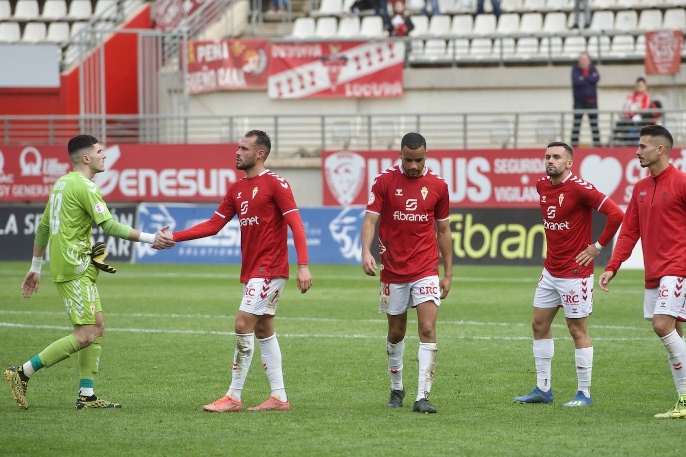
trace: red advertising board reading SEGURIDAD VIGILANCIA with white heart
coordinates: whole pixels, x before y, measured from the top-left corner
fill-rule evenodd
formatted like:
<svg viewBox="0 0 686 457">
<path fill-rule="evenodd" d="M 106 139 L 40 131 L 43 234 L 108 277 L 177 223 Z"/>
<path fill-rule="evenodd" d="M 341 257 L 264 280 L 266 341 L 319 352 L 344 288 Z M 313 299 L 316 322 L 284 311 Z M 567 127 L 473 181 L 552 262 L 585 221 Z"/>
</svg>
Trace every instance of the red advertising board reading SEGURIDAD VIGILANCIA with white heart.
<svg viewBox="0 0 686 457">
<path fill-rule="evenodd" d="M 545 176 L 543 149 L 431 150 L 426 166 L 448 183 L 453 208 L 536 208 L 536 181 Z M 635 147 L 574 151 L 571 171 L 615 203 L 628 203 L 646 177 Z M 672 163 L 686 172 L 686 148 L 674 147 Z M 324 151 L 325 206 L 365 205 L 378 173 L 399 164 L 398 151 Z"/>
</svg>

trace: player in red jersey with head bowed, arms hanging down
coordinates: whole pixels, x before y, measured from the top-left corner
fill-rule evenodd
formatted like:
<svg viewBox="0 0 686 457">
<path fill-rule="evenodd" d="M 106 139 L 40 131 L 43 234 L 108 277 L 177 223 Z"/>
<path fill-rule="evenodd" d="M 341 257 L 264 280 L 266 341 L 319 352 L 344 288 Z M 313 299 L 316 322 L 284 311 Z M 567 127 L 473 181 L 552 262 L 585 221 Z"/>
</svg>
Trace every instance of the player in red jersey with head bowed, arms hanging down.
<svg viewBox="0 0 686 457">
<path fill-rule="evenodd" d="M 436 314 L 440 300 L 450 291 L 453 276 L 452 238 L 448 218 L 448 185 L 425 167 L 427 143 L 409 133 L 401 141 L 401 164 L 377 175 L 362 223 L 362 269 L 376 276 L 377 264 L 370 248 L 377 221 L 381 253 L 381 299 L 379 312 L 388 317 L 389 408 L 401 408 L 403 353 L 407 310 L 416 308 L 419 332 L 419 386 L 413 410 L 436 412 L 429 403 L 436 369 Z M 438 279 L 438 249 L 443 258 L 443 277 Z"/>
</svg>

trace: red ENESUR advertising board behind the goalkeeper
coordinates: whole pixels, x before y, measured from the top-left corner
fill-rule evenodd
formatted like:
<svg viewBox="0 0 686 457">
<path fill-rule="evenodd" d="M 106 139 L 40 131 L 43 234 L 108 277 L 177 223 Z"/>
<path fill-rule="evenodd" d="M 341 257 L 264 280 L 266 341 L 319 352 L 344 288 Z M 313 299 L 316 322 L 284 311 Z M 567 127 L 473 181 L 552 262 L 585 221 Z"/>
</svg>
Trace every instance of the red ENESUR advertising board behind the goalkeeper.
<svg viewBox="0 0 686 457">
<path fill-rule="evenodd" d="M 245 175 L 236 169 L 237 145 L 103 147 L 105 171 L 93 181 L 108 202 L 217 202 Z M 69 171 L 66 147 L 1 147 L 0 201 L 46 201 L 52 185 Z"/>
</svg>

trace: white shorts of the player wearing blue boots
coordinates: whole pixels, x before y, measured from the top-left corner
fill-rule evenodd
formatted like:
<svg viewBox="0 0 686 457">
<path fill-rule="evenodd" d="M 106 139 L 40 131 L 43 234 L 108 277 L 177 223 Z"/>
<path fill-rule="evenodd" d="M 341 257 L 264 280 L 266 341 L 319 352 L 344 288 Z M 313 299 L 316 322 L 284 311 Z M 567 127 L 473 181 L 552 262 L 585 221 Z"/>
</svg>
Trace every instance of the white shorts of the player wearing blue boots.
<svg viewBox="0 0 686 457">
<path fill-rule="evenodd" d="M 593 314 L 593 275 L 554 277 L 544 268 L 536 286 L 534 308 L 564 308 L 569 319 L 589 317 Z"/>
</svg>

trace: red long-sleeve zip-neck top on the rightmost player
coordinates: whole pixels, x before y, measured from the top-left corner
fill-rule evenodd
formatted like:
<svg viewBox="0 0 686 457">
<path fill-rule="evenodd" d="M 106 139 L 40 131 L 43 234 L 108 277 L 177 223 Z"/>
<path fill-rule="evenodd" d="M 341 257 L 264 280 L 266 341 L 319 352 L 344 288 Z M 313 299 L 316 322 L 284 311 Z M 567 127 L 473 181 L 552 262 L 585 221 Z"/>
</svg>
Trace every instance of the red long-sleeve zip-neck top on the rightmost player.
<svg viewBox="0 0 686 457">
<path fill-rule="evenodd" d="M 639 238 L 646 288 L 659 286 L 663 276 L 686 276 L 686 174 L 672 165 L 634 186 L 605 271 L 616 275 Z"/>
</svg>

